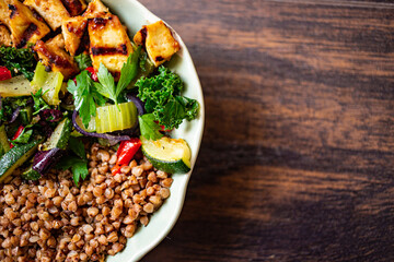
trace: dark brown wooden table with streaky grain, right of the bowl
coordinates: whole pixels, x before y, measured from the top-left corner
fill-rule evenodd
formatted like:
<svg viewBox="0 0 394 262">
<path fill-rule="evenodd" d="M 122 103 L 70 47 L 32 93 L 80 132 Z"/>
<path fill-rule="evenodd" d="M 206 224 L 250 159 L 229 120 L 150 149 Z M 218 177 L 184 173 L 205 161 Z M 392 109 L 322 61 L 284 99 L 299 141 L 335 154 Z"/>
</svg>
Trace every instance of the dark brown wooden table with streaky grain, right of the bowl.
<svg viewBox="0 0 394 262">
<path fill-rule="evenodd" d="M 188 46 L 207 116 L 142 261 L 394 261 L 394 4 L 141 2 Z"/>
</svg>

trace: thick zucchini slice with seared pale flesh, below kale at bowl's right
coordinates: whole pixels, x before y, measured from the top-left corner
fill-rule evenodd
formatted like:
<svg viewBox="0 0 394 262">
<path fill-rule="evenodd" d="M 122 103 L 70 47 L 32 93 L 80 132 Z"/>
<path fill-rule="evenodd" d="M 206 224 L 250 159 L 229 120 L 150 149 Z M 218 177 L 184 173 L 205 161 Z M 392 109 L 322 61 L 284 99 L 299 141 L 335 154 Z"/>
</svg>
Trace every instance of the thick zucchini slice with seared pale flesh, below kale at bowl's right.
<svg viewBox="0 0 394 262">
<path fill-rule="evenodd" d="M 146 140 L 141 136 L 142 153 L 152 165 L 165 172 L 188 172 L 190 170 L 192 152 L 183 139 Z"/>
</svg>

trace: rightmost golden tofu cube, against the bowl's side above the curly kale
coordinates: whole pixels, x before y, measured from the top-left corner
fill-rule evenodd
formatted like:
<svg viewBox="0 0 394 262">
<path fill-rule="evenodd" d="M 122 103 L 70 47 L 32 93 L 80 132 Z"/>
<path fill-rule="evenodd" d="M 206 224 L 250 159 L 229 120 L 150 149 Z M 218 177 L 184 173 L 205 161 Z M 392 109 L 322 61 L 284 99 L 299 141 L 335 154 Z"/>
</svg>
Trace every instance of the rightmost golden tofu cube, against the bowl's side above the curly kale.
<svg viewBox="0 0 394 262">
<path fill-rule="evenodd" d="M 149 58 L 159 67 L 177 52 L 181 47 L 163 21 L 144 25 L 134 37 L 137 45 L 144 45 Z"/>
</svg>

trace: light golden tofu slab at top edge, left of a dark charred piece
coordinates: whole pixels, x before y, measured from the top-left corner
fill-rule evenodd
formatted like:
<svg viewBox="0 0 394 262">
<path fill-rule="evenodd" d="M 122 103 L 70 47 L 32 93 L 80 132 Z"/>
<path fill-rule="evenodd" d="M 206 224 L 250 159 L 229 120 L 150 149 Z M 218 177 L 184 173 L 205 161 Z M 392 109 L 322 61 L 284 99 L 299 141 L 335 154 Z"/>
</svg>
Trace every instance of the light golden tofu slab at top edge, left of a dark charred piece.
<svg viewBox="0 0 394 262">
<path fill-rule="evenodd" d="M 39 13 L 53 31 L 61 26 L 63 19 L 70 17 L 69 12 L 60 0 L 25 0 L 23 3 Z"/>
</svg>

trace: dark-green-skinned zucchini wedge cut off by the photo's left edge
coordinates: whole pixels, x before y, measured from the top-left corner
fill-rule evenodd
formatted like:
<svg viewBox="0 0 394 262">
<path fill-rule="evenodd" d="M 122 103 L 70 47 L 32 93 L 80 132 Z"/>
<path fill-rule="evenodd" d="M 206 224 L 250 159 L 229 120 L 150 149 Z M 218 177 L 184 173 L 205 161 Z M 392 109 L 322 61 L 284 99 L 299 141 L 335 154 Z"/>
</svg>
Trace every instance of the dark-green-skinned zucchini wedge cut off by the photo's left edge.
<svg viewBox="0 0 394 262">
<path fill-rule="evenodd" d="M 36 152 L 42 140 L 28 144 L 18 144 L 0 158 L 0 182 L 4 181 L 18 167 L 22 166 Z"/>
</svg>

